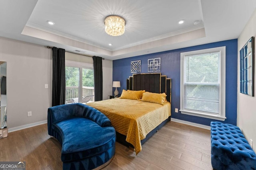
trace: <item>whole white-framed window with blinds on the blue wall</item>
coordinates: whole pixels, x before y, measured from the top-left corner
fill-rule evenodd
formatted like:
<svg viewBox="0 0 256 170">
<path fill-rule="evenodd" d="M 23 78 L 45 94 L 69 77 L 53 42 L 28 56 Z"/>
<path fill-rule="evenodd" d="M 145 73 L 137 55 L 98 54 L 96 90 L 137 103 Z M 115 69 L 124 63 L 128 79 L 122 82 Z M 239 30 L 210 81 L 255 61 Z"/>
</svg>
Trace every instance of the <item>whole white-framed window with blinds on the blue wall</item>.
<svg viewBox="0 0 256 170">
<path fill-rule="evenodd" d="M 225 120 L 226 47 L 180 53 L 180 111 Z"/>
</svg>

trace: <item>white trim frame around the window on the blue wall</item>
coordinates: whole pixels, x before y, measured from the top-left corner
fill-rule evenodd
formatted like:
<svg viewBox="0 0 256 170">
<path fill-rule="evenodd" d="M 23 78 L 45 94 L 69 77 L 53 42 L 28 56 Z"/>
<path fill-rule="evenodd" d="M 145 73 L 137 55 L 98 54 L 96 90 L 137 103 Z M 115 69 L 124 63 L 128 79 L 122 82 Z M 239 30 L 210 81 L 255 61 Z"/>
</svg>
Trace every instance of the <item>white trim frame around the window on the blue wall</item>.
<svg viewBox="0 0 256 170">
<path fill-rule="evenodd" d="M 184 56 L 220 51 L 220 113 L 184 109 Z M 180 112 L 182 114 L 224 121 L 226 119 L 226 46 L 180 53 Z"/>
</svg>

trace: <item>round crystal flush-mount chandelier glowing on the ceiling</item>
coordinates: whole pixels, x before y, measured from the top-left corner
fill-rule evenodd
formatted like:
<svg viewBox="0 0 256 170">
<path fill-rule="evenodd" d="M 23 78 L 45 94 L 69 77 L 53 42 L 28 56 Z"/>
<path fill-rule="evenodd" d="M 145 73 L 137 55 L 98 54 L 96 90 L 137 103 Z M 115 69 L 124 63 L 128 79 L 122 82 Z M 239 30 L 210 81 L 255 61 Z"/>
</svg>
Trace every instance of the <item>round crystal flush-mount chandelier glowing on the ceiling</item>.
<svg viewBox="0 0 256 170">
<path fill-rule="evenodd" d="M 105 18 L 105 31 L 108 35 L 119 36 L 124 33 L 124 18 L 120 16 L 108 16 Z"/>
</svg>

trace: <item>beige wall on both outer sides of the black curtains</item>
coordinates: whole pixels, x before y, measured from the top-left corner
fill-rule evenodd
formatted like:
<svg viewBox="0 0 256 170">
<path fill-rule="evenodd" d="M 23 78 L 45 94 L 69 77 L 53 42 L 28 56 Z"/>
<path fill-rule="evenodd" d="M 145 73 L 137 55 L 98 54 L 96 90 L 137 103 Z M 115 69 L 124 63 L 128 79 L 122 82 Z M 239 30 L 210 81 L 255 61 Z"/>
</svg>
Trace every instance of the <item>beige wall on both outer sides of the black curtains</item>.
<svg viewBox="0 0 256 170">
<path fill-rule="evenodd" d="M 52 50 L 0 37 L 0 61 L 7 62 L 8 128 L 46 122 L 52 104 Z M 103 98 L 107 99 L 112 94 L 112 61 L 103 60 L 102 65 Z M 31 117 L 27 117 L 28 111 L 32 111 Z"/>
</svg>

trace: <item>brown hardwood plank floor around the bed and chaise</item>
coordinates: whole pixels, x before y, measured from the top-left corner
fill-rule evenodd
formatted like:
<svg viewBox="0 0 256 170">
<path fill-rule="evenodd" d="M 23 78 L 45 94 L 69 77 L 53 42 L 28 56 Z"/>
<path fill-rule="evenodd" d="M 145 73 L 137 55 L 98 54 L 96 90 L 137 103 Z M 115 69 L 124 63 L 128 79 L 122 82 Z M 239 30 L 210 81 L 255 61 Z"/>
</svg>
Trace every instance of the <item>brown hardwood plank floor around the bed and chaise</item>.
<svg viewBox="0 0 256 170">
<path fill-rule="evenodd" d="M 168 122 L 136 156 L 116 143 L 114 159 L 103 170 L 212 170 L 210 130 Z M 26 161 L 26 170 L 62 170 L 61 146 L 47 124 L 22 129 L 0 139 L 0 161 Z"/>
</svg>

